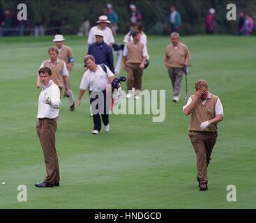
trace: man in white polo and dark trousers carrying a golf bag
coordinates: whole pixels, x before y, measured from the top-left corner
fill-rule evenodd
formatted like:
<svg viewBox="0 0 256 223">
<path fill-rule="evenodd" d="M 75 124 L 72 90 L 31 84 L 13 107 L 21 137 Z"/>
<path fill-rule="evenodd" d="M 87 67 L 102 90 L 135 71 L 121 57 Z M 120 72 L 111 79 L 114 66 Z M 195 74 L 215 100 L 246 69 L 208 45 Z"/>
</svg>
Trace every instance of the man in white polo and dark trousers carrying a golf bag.
<svg viewBox="0 0 256 223">
<path fill-rule="evenodd" d="M 111 85 L 107 88 L 107 84 L 110 84 L 114 79 L 114 74 L 111 72 L 107 66 L 105 66 L 105 70 L 101 68 L 100 65 L 95 63 L 95 58 L 92 55 L 87 55 L 84 57 L 84 61 L 88 70 L 84 72 L 80 83 L 80 93 L 79 98 L 77 100 L 77 105 L 81 104 L 82 96 L 84 95 L 84 91 L 89 89 L 90 93 L 90 104 L 93 112 L 93 134 L 99 134 L 101 130 L 101 120 L 100 114 L 103 119 L 103 124 L 105 125 L 105 131 L 110 131 L 109 124 L 109 115 L 108 110 L 109 106 L 107 105 L 107 95 L 111 95 Z M 100 97 L 100 96 L 103 97 Z M 98 103 L 96 103 L 98 100 Z M 111 100 L 111 99 L 110 99 Z M 96 102 L 94 102 L 96 101 Z M 95 105 L 96 104 L 96 105 Z M 103 108 L 103 109 L 102 109 Z M 101 110 L 101 111 L 99 111 Z"/>
</svg>

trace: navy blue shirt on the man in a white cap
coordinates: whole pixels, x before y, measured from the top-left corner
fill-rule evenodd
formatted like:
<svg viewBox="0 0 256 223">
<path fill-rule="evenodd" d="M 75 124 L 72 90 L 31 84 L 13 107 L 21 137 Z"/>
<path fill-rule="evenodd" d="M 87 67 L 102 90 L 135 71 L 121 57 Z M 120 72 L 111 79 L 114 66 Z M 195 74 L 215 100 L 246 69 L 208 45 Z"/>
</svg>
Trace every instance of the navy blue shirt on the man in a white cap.
<svg viewBox="0 0 256 223">
<path fill-rule="evenodd" d="M 103 42 L 100 44 L 90 44 L 87 54 L 95 57 L 96 64 L 105 63 L 105 65 L 108 66 L 112 72 L 114 72 L 112 49 L 109 45 L 107 45 L 107 43 Z"/>
</svg>

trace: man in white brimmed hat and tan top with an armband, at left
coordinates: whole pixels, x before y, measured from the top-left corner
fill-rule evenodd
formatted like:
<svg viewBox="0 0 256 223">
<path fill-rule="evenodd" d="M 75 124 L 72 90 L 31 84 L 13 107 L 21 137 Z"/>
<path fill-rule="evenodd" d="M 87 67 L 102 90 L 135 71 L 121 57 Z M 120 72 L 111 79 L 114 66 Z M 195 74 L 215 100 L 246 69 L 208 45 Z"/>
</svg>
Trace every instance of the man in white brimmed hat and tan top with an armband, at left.
<svg viewBox="0 0 256 223">
<path fill-rule="evenodd" d="M 73 112 L 75 110 L 75 97 L 73 94 L 73 91 L 70 87 L 70 71 L 73 69 L 74 66 L 74 55 L 71 47 L 68 47 L 64 45 L 64 38 L 62 35 L 55 35 L 54 39 L 52 40 L 59 49 L 59 56 L 58 58 L 62 61 L 65 61 L 67 69 L 68 69 L 68 94 L 64 95 L 64 97 L 68 97 L 68 102 L 70 106 L 70 112 Z"/>
</svg>

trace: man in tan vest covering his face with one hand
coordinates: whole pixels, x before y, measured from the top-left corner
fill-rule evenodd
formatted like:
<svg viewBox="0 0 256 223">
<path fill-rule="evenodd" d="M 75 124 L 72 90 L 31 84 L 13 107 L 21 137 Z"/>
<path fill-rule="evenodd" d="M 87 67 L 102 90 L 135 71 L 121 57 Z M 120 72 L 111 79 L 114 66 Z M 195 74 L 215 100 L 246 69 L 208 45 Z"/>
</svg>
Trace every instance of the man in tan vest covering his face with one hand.
<svg viewBox="0 0 256 223">
<path fill-rule="evenodd" d="M 223 121 L 223 105 L 218 96 L 209 93 L 206 81 L 200 79 L 183 112 L 186 116 L 191 114 L 188 135 L 197 156 L 199 190 L 208 190 L 207 167 L 218 136 L 218 122 Z"/>
</svg>

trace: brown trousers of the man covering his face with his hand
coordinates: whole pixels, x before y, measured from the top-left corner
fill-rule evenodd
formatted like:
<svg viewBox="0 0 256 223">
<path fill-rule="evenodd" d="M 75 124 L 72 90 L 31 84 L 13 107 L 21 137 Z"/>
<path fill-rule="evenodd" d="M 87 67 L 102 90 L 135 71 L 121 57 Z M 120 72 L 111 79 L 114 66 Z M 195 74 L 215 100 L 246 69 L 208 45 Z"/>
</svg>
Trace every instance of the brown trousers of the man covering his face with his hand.
<svg viewBox="0 0 256 223">
<path fill-rule="evenodd" d="M 211 160 L 211 152 L 216 144 L 217 132 L 196 132 L 188 133 L 197 155 L 197 181 L 208 183 L 207 167 Z"/>
</svg>

